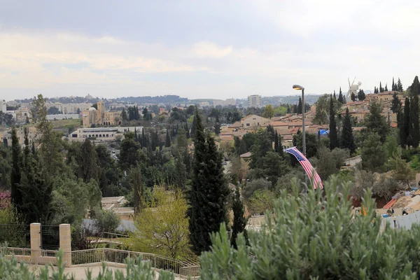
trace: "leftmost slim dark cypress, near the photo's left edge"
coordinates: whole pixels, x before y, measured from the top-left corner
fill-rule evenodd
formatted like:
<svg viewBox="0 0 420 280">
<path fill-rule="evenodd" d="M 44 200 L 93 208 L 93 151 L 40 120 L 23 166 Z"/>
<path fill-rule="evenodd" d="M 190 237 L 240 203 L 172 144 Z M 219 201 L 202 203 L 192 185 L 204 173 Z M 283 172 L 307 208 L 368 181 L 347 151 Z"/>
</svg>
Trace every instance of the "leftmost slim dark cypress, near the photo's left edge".
<svg viewBox="0 0 420 280">
<path fill-rule="evenodd" d="M 22 207 L 22 190 L 20 189 L 21 173 L 21 149 L 18 134 L 15 127 L 12 129 L 12 172 L 10 174 L 10 197 L 13 205 L 18 211 Z"/>
</svg>

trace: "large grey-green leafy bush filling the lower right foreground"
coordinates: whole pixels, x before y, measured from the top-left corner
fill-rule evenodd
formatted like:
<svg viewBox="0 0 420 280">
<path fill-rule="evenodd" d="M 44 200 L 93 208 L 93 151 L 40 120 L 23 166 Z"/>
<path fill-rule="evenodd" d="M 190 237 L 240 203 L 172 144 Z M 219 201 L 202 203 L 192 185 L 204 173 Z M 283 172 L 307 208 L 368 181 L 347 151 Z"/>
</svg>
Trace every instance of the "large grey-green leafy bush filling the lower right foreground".
<svg viewBox="0 0 420 280">
<path fill-rule="evenodd" d="M 248 232 L 249 246 L 239 235 L 233 248 L 221 225 L 200 257 L 202 279 L 417 279 L 420 227 L 381 230 L 371 190 L 363 198 L 366 215 L 353 217 L 349 187 L 337 192 L 331 180 L 307 197 L 297 186 L 281 192 L 267 224 Z"/>
</svg>

